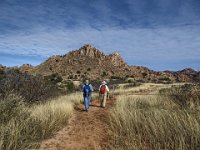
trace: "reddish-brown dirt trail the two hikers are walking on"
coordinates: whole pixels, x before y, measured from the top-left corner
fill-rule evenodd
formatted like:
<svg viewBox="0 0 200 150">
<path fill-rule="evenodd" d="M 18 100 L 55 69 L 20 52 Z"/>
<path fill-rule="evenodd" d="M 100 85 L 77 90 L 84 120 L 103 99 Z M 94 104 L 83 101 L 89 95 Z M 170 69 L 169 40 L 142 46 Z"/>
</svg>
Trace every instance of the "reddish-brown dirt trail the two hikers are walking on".
<svg viewBox="0 0 200 150">
<path fill-rule="evenodd" d="M 107 100 L 106 108 L 99 107 L 99 101 L 91 102 L 89 112 L 83 104 L 75 109 L 68 126 L 52 139 L 42 142 L 40 150 L 103 150 L 108 149 L 108 110 L 113 100 Z"/>
</svg>

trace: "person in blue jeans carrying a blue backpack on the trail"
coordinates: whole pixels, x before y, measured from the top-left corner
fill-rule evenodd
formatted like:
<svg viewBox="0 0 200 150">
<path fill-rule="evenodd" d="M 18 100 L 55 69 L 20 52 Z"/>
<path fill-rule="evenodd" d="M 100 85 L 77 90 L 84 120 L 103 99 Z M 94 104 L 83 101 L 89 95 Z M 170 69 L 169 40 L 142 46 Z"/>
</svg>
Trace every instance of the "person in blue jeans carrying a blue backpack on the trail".
<svg viewBox="0 0 200 150">
<path fill-rule="evenodd" d="M 93 91 L 93 87 L 89 83 L 89 80 L 85 81 L 82 91 L 83 91 L 83 97 L 84 97 L 85 111 L 88 112 L 88 109 L 90 106 L 91 93 Z"/>
</svg>

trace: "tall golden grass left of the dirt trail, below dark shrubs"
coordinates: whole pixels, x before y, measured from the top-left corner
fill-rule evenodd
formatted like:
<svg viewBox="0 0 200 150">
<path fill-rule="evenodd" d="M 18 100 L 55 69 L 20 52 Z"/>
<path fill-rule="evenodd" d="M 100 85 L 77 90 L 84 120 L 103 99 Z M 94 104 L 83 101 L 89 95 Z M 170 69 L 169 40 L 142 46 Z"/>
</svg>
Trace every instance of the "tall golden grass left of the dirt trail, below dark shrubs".
<svg viewBox="0 0 200 150">
<path fill-rule="evenodd" d="M 27 106 L 20 96 L 9 95 L 0 101 L 0 150 L 37 148 L 41 140 L 68 123 L 81 99 L 77 93 Z"/>
</svg>

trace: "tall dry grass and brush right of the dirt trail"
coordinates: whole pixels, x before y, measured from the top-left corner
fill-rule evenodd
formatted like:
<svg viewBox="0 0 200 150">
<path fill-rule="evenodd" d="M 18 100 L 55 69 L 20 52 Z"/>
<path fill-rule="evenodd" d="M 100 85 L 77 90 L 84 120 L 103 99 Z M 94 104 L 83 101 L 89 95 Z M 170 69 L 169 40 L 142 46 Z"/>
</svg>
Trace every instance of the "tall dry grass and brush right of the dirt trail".
<svg viewBox="0 0 200 150">
<path fill-rule="evenodd" d="M 200 148 L 199 85 L 173 86 L 159 96 L 118 96 L 110 111 L 114 149 Z"/>
</svg>

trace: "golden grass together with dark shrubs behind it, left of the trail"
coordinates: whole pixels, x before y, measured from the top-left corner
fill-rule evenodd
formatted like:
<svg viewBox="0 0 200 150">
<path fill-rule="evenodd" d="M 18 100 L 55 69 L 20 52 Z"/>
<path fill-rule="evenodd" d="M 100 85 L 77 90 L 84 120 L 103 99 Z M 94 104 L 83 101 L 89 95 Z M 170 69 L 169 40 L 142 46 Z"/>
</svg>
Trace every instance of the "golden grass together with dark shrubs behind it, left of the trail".
<svg viewBox="0 0 200 150">
<path fill-rule="evenodd" d="M 57 85 L 61 81 L 58 74 L 33 76 L 18 69 L 1 72 L 1 150 L 37 148 L 43 139 L 67 125 L 82 93 L 69 94 L 70 82 L 62 96 Z"/>
</svg>

